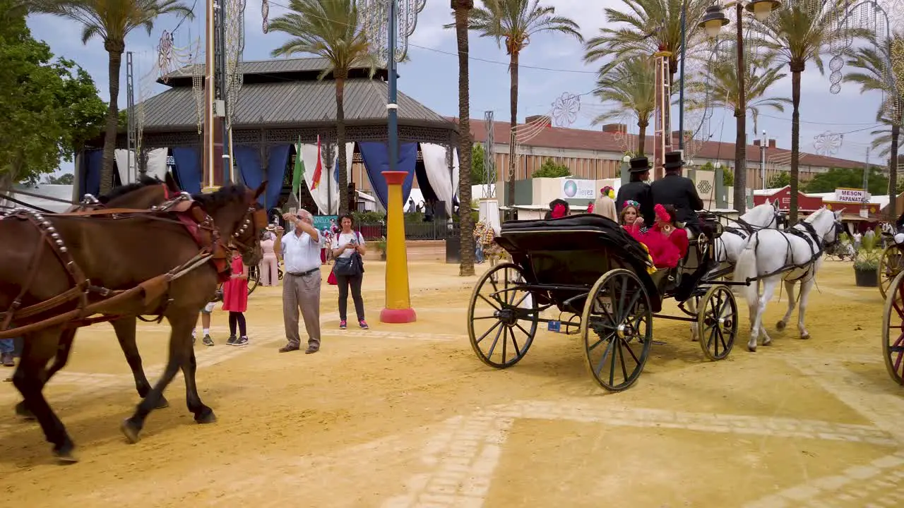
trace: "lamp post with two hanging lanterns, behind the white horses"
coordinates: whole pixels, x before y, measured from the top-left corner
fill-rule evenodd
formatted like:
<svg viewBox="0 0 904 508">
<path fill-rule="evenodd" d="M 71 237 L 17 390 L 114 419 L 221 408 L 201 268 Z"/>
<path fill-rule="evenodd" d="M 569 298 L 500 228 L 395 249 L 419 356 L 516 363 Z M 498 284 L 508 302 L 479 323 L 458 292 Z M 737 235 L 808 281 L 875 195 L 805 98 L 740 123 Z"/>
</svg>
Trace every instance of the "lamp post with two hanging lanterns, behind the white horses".
<svg viewBox="0 0 904 508">
<path fill-rule="evenodd" d="M 742 0 L 738 0 L 726 5 L 734 6 L 738 16 L 736 27 L 738 104 L 735 105 L 738 133 L 735 137 L 735 185 L 732 204 L 739 215 L 747 211 L 747 87 L 744 83 L 747 68 L 744 65 L 744 26 L 741 21 L 743 20 L 745 8 L 759 21 L 765 21 L 769 14 L 779 5 L 781 3 L 778 0 L 752 0 L 746 4 Z M 719 5 L 711 5 L 706 9 L 706 14 L 703 14 L 703 19 L 698 26 L 705 30 L 707 35 L 715 37 L 726 24 L 729 24 L 729 19 L 722 12 L 722 8 Z"/>
</svg>

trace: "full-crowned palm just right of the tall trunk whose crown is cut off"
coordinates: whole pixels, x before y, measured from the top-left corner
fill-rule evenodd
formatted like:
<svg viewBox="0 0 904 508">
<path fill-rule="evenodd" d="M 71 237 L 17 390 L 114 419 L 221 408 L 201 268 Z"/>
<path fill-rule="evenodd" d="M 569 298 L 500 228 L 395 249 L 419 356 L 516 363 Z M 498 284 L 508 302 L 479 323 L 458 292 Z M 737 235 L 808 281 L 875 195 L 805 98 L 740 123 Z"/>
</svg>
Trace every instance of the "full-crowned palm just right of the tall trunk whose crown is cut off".
<svg viewBox="0 0 904 508">
<path fill-rule="evenodd" d="M 480 33 L 481 37 L 493 37 L 497 43 L 505 41 L 505 52 L 509 55 L 509 73 L 512 77 L 511 108 L 512 134 L 509 138 L 508 188 L 505 202 L 514 204 L 514 163 L 515 127 L 518 126 L 518 61 L 524 47 L 535 33 L 565 33 L 584 42 L 578 32 L 579 26 L 570 18 L 557 16 L 555 7 L 540 5 L 540 0 L 483 0 L 484 7 L 471 13 L 468 26 Z M 452 27 L 449 24 L 447 27 Z"/>
</svg>

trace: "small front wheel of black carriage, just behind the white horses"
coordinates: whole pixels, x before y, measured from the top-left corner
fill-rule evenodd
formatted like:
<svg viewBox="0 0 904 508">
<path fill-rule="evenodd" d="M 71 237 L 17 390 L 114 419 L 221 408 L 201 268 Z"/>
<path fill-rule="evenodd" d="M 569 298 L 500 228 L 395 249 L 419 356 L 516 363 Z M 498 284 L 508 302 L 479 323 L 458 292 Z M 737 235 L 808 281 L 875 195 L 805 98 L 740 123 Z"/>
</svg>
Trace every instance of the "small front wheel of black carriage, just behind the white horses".
<svg viewBox="0 0 904 508">
<path fill-rule="evenodd" d="M 697 306 L 700 349 L 710 360 L 725 360 L 738 336 L 738 302 L 727 286 L 713 286 Z"/>
</svg>

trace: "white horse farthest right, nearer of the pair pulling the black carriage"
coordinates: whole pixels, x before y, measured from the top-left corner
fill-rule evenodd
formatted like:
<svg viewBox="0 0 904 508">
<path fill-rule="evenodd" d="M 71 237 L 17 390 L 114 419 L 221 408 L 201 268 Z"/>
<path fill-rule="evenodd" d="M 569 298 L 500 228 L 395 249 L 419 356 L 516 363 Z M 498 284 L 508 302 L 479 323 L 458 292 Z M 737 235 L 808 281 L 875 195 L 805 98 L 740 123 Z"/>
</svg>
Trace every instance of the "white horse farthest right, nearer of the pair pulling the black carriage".
<svg viewBox="0 0 904 508">
<path fill-rule="evenodd" d="M 750 309 L 749 351 L 757 351 L 760 333 L 763 334 L 763 345 L 772 343 L 762 319 L 767 303 L 775 295 L 779 280 L 785 282 L 788 309 L 776 328 L 783 330 L 795 306 L 799 306 L 797 330 L 800 338 L 810 338 L 804 325 L 806 302 L 815 285 L 816 273 L 823 264 L 825 247 L 838 240 L 842 228 L 841 221 L 838 220 L 840 216 L 841 211 L 832 212 L 821 208 L 787 230 L 758 230 L 750 236 L 747 246 L 740 253 L 734 272 L 736 282 L 759 279 L 763 285 L 762 295 L 758 295 L 757 282 L 742 289 Z M 794 297 L 797 282 L 801 284 L 799 300 Z"/>
</svg>

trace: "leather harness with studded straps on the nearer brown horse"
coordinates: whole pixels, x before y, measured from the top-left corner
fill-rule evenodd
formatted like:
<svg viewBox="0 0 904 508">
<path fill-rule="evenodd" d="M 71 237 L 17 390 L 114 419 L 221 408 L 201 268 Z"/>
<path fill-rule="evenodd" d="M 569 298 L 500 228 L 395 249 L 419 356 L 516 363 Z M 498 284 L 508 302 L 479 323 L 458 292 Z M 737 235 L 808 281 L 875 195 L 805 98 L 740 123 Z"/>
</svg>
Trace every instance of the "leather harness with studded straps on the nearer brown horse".
<svg viewBox="0 0 904 508">
<path fill-rule="evenodd" d="M 22 289 L 14 298 L 13 303 L 9 306 L 9 308 L 5 312 L 0 313 L 0 316 L 2 316 L 2 322 L 0 322 L 0 334 L 4 334 L 5 332 L 10 331 L 9 326 L 12 323 L 14 317 L 17 319 L 25 319 L 34 315 L 40 315 L 48 310 L 51 310 L 54 307 L 61 306 L 76 299 L 78 300 L 78 307 L 76 311 L 74 311 L 75 315 L 73 317 L 76 320 L 82 322 L 82 325 L 89 325 L 94 322 L 108 320 L 107 318 L 100 318 L 97 320 L 89 320 L 86 318 L 88 315 L 97 314 L 100 311 L 99 307 L 102 304 L 107 303 L 108 298 L 113 296 L 120 296 L 124 295 L 125 293 L 137 294 L 137 290 L 139 289 L 144 290 L 146 295 L 146 303 L 152 301 L 156 296 L 164 296 L 166 291 L 168 290 L 170 282 L 172 282 L 176 278 L 184 276 L 194 268 L 198 268 L 207 262 L 211 262 L 216 268 L 218 278 L 221 281 L 230 278 L 230 250 L 225 242 L 221 240 L 220 231 L 213 223 L 213 219 L 210 214 L 204 211 L 202 209 L 202 206 L 198 202 L 194 202 L 190 194 L 176 194 L 168 201 L 152 206 L 148 210 L 105 208 L 102 203 L 97 201 L 97 199 L 92 200 L 91 198 L 93 198 L 93 196 L 86 196 L 86 199 L 80 203 L 80 210 L 78 211 L 58 213 L 54 214 L 54 216 L 104 216 L 109 217 L 112 220 L 117 220 L 143 215 L 148 219 L 154 219 L 157 221 L 177 222 L 181 223 L 185 227 L 185 229 L 188 230 L 188 232 L 192 235 L 193 240 L 195 240 L 195 242 L 198 244 L 200 250 L 198 254 L 196 254 L 192 259 L 189 259 L 182 265 L 171 269 L 161 276 L 147 280 L 142 284 L 139 284 L 137 287 L 133 287 L 131 289 L 113 290 L 109 289 L 108 287 L 99 287 L 91 284 L 90 279 L 85 277 L 84 271 L 75 262 L 75 259 L 72 258 L 71 252 L 63 242 L 59 231 L 57 231 L 53 226 L 52 221 L 49 221 L 46 217 L 44 217 L 41 212 L 35 212 L 27 208 L 16 208 L 12 212 L 0 213 L 0 220 L 18 219 L 20 221 L 28 221 L 33 224 L 33 226 L 41 233 L 41 236 L 38 239 L 37 243 L 37 251 L 34 253 L 32 259 L 29 262 Z M 95 207 L 99 209 L 92 209 Z M 253 234 L 254 230 L 257 229 L 259 222 L 257 212 L 258 211 L 253 206 L 253 204 L 249 206 L 248 212 L 246 213 L 244 220 L 240 225 L 240 228 L 236 230 L 232 235 L 231 241 L 235 244 L 238 244 L 243 249 L 249 249 L 249 246 L 245 242 L 251 240 L 243 239 L 245 240 L 245 242 L 243 242 L 240 240 L 240 238 L 242 238 L 242 236 L 248 230 L 252 230 Z M 176 220 L 174 221 L 173 219 L 160 217 L 157 215 L 159 213 L 172 213 L 175 215 Z M 266 221 L 266 217 L 264 218 L 264 221 Z M 48 300 L 44 300 L 32 306 L 20 308 L 22 306 L 23 297 L 33 285 L 34 278 L 37 275 L 38 268 L 40 267 L 43 253 L 48 247 L 52 251 L 53 255 L 57 259 L 59 259 L 62 267 L 67 271 L 73 287 L 61 293 L 60 295 L 53 296 Z M 92 294 L 99 295 L 104 298 L 104 300 L 101 300 L 100 302 L 94 304 L 89 304 L 89 296 Z M 48 318 L 44 321 L 50 320 L 55 321 L 56 319 Z M 40 323 L 33 325 L 40 325 Z M 37 326 L 35 326 L 35 328 L 37 329 Z"/>
</svg>

